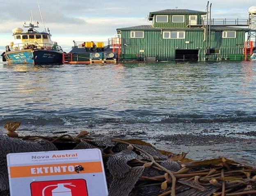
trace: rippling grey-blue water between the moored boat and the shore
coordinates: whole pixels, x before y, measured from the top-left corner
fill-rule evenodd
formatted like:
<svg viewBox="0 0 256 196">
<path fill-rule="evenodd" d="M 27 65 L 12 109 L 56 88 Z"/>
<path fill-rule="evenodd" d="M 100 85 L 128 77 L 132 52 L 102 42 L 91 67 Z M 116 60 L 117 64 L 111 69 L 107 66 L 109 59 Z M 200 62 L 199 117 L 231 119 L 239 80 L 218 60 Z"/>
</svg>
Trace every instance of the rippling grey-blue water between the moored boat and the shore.
<svg viewBox="0 0 256 196">
<path fill-rule="evenodd" d="M 256 125 L 255 73 L 256 62 L 0 63 L 0 133 L 21 121 L 24 135 L 228 131 L 255 139 L 247 134 Z"/>
</svg>

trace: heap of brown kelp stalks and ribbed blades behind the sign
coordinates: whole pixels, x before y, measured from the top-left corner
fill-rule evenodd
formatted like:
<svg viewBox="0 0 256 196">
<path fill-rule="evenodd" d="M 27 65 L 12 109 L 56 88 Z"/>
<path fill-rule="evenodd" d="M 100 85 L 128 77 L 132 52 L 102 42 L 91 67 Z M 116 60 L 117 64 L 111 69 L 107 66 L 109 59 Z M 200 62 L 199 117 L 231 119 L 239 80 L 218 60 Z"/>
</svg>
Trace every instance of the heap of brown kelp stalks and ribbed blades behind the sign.
<svg viewBox="0 0 256 196">
<path fill-rule="evenodd" d="M 186 153 L 161 151 L 142 140 L 91 137 L 86 131 L 76 137 L 20 136 L 17 139 L 21 143 L 47 140 L 58 150 L 100 149 L 110 196 L 256 195 L 256 169 L 227 158 L 195 161 L 186 158 Z"/>
</svg>

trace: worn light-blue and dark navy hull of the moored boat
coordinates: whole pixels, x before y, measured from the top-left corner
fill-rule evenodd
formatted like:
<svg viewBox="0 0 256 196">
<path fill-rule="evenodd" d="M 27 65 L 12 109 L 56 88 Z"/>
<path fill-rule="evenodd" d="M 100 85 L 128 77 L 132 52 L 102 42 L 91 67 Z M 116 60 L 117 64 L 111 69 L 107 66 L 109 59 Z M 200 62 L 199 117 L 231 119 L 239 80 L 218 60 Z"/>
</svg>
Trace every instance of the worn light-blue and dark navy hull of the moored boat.
<svg viewBox="0 0 256 196">
<path fill-rule="evenodd" d="M 8 63 L 32 63 L 34 65 L 62 64 L 62 52 L 55 50 L 24 49 L 4 54 Z"/>
</svg>

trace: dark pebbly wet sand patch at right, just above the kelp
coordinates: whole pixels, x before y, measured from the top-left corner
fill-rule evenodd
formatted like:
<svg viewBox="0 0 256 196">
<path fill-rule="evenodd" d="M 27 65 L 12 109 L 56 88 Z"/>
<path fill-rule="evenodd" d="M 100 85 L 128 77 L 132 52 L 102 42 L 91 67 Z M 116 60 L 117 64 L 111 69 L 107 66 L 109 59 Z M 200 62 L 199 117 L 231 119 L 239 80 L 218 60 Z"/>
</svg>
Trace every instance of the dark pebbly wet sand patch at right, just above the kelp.
<svg viewBox="0 0 256 196">
<path fill-rule="evenodd" d="M 215 135 L 160 136 L 153 145 L 175 154 L 188 152 L 187 158 L 205 160 L 226 157 L 256 167 L 256 140 Z"/>
</svg>

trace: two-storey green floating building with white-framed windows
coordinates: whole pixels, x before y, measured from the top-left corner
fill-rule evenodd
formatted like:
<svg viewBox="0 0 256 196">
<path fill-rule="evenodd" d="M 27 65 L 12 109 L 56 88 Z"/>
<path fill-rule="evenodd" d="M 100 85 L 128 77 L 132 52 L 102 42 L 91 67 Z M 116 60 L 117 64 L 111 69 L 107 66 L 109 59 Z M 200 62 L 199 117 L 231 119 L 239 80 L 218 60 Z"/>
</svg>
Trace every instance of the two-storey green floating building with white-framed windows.
<svg viewBox="0 0 256 196">
<path fill-rule="evenodd" d="M 209 15 L 188 9 L 151 12 L 152 25 L 117 29 L 119 60 L 245 60 L 249 20 Z"/>
</svg>

